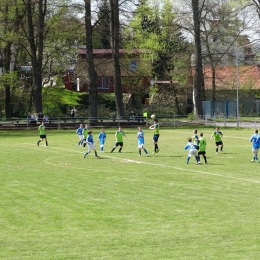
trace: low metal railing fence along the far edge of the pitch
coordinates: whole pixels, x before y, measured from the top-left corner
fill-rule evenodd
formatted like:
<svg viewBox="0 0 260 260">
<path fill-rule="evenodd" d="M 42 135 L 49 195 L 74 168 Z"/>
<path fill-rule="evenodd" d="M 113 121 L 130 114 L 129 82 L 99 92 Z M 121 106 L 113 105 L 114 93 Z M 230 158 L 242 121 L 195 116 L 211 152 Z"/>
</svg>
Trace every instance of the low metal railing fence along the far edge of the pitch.
<svg viewBox="0 0 260 260">
<path fill-rule="evenodd" d="M 201 116 L 199 119 L 195 119 L 193 116 L 158 116 L 161 127 L 192 127 L 195 126 L 208 126 L 208 127 L 245 127 L 245 128 L 259 128 L 260 118 L 236 118 L 226 116 Z M 102 127 L 118 127 L 119 125 L 127 128 L 137 127 L 139 125 L 148 127 L 153 123 L 150 117 L 97 117 L 97 118 L 50 118 L 50 121 L 46 124 L 48 129 L 76 129 L 80 124 L 89 124 L 91 128 Z M 1 130 L 36 130 L 41 122 L 28 122 L 25 118 L 10 118 L 0 121 Z"/>
</svg>

